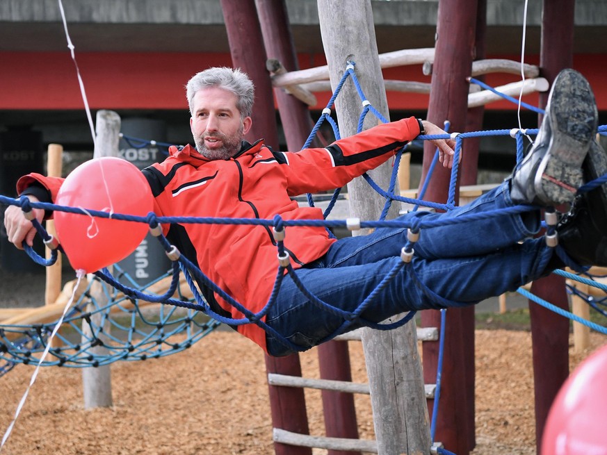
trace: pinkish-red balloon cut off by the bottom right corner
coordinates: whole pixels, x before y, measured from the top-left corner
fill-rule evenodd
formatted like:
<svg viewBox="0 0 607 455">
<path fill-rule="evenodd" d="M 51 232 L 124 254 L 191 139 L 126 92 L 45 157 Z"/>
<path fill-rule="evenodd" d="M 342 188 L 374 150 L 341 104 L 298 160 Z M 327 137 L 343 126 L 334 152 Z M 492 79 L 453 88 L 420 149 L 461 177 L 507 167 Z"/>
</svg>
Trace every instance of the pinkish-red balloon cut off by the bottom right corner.
<svg viewBox="0 0 607 455">
<path fill-rule="evenodd" d="M 550 408 L 542 455 L 607 455 L 607 345 L 567 378 Z"/>
</svg>

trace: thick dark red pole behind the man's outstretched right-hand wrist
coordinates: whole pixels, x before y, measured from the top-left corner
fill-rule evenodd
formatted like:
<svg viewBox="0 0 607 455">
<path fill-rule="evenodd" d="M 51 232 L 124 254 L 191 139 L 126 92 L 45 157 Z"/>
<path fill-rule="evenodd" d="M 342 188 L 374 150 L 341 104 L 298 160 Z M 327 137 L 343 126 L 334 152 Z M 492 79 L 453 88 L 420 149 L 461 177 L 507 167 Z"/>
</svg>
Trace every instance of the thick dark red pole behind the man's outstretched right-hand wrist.
<svg viewBox="0 0 607 455">
<path fill-rule="evenodd" d="M 432 85 L 428 119 L 439 126 L 445 120 L 451 122 L 451 131 L 464 131 L 468 108 L 469 84 L 476 37 L 477 0 L 453 0 L 439 2 L 435 61 L 432 68 Z M 424 147 L 422 181 L 428 173 L 435 149 L 427 143 Z M 450 172 L 442 166 L 435 169 L 430 180 L 427 196 L 430 201 L 446 201 Z M 457 196 L 456 196 L 457 197 Z M 458 455 L 469 453 L 474 442 L 470 440 L 467 418 L 469 391 L 467 365 L 464 356 L 464 314 L 459 308 L 447 311 L 442 390 L 437 415 L 435 440 L 444 443 L 446 449 Z M 423 326 L 440 326 L 438 311 L 423 311 Z M 436 380 L 438 343 L 423 342 L 424 381 Z M 430 414 L 432 400 L 429 400 Z"/>
</svg>

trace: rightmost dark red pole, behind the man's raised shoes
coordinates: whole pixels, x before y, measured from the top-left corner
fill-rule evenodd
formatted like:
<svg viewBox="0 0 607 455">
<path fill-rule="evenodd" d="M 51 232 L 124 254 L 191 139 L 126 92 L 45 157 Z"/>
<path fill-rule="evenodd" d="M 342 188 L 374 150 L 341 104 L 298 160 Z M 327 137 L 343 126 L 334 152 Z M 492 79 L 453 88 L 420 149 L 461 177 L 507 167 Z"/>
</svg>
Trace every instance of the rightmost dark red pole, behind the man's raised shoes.
<svg viewBox="0 0 607 455">
<path fill-rule="evenodd" d="M 575 0 L 544 1 L 542 15 L 542 76 L 552 84 L 561 69 L 573 65 Z M 545 106 L 548 94 L 540 96 Z M 539 122 L 541 124 L 541 117 Z M 531 292 L 559 308 L 569 309 L 565 279 L 551 275 L 533 282 Z M 569 375 L 569 320 L 543 306 L 529 302 L 533 340 L 535 386 L 535 435 L 541 452 L 542 433 L 550 406 Z"/>
</svg>

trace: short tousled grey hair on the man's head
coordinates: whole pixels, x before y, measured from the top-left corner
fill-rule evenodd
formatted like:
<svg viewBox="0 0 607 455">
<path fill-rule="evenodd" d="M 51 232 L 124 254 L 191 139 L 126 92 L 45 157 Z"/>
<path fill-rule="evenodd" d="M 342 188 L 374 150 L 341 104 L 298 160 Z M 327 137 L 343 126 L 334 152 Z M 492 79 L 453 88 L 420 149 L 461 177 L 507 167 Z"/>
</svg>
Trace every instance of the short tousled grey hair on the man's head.
<svg viewBox="0 0 607 455">
<path fill-rule="evenodd" d="M 204 88 L 218 87 L 236 95 L 236 108 L 241 118 L 250 117 L 253 110 L 255 88 L 249 76 L 240 69 L 211 67 L 195 74 L 186 85 L 188 106 L 193 115 L 193 99 L 196 92 Z"/>
</svg>

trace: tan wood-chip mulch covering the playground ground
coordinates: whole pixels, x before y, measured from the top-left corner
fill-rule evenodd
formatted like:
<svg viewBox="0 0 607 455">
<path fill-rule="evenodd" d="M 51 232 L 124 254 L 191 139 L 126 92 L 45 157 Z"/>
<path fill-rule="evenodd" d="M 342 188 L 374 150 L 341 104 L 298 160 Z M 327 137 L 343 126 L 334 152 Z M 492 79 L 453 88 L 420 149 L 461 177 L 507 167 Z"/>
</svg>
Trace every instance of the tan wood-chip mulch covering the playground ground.
<svg viewBox="0 0 607 455">
<path fill-rule="evenodd" d="M 572 368 L 605 343 L 570 352 Z M 365 382 L 359 342 L 349 342 L 354 381 Z M 318 377 L 312 349 L 302 354 L 306 377 Z M 17 365 L 0 378 L 0 429 L 12 420 L 33 374 Z M 111 367 L 113 406 L 83 408 L 81 370 L 40 371 L 3 454 L 250 454 L 274 453 L 264 356 L 236 333 L 216 331 L 191 349 Z M 306 390 L 310 433 L 324 434 L 321 393 Z M 361 438 L 373 438 L 368 396 L 356 395 Z M 476 331 L 474 455 L 535 454 L 531 334 Z M 448 447 L 446 447 L 448 449 Z M 314 449 L 314 455 L 326 451 Z"/>
</svg>

